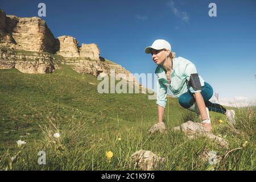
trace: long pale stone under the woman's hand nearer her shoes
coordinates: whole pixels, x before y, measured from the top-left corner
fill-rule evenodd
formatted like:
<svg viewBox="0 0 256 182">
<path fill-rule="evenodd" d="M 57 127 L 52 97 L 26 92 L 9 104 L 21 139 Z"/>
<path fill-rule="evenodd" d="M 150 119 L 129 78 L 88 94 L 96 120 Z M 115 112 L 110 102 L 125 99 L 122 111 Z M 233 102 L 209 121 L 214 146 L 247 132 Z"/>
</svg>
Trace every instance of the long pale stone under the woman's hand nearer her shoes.
<svg viewBox="0 0 256 182">
<path fill-rule="evenodd" d="M 174 131 L 183 131 L 188 138 L 195 138 L 195 137 L 207 137 L 213 142 L 216 142 L 220 147 L 228 148 L 229 143 L 221 138 L 218 137 L 209 131 L 205 130 L 205 127 L 201 123 L 194 123 L 192 121 L 188 121 L 183 123 L 181 126 L 174 127 L 172 130 Z"/>
</svg>

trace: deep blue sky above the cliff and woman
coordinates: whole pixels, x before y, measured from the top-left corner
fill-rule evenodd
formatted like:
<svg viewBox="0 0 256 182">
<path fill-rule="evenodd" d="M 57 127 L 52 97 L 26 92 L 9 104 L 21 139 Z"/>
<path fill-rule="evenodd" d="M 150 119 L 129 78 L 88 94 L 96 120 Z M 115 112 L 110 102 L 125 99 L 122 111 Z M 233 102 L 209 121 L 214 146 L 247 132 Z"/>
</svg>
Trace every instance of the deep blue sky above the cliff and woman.
<svg viewBox="0 0 256 182">
<path fill-rule="evenodd" d="M 197 72 L 220 98 L 256 98 L 256 1 L 1 1 L 6 14 L 38 16 L 46 3 L 53 35 L 70 35 L 79 44 L 96 43 L 101 56 L 132 73 L 154 73 L 144 53 L 155 39 L 166 39 L 177 56 Z M 208 15 L 209 3 L 217 17 Z"/>
</svg>

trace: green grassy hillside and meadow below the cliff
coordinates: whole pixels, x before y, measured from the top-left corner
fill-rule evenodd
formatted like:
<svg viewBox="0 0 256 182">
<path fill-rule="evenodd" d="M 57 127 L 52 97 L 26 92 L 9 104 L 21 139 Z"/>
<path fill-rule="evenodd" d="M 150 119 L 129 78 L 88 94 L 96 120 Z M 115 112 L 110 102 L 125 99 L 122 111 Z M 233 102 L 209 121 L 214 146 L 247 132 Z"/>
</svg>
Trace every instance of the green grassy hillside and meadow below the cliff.
<svg viewBox="0 0 256 182">
<path fill-rule="evenodd" d="M 227 125 L 225 115 L 210 111 L 213 133 L 226 137 L 228 150 L 248 143 L 230 152 L 224 164 L 209 166 L 199 160 L 204 148 L 220 155 L 227 150 L 205 138 L 189 140 L 171 130 L 147 133 L 158 118 L 155 100 L 148 100 L 146 94 L 100 94 L 96 77 L 67 65 L 51 74 L 2 69 L 0 78 L 0 169 L 130 170 L 134 169 L 131 154 L 143 149 L 167 159 L 160 170 L 255 170 L 256 116 L 249 118 L 247 108 L 235 109 L 236 127 Z M 176 98 L 168 98 L 164 111 L 168 129 L 189 119 L 199 121 Z M 59 139 L 52 137 L 56 132 Z M 19 139 L 27 142 L 21 148 L 16 144 Z M 39 151 L 46 152 L 46 165 L 38 164 Z M 106 151 L 113 152 L 111 160 L 106 159 Z"/>
</svg>

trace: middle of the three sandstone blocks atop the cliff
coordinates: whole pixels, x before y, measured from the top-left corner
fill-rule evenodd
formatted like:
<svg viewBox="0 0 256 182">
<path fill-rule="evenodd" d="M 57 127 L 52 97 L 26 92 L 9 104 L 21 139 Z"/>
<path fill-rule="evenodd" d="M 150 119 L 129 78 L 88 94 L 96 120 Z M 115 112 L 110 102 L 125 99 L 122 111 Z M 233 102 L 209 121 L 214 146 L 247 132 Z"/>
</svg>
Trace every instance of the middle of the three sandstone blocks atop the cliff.
<svg viewBox="0 0 256 182">
<path fill-rule="evenodd" d="M 77 40 L 72 36 L 59 36 L 59 51 L 57 55 L 63 57 L 79 57 L 79 48 L 77 47 Z M 57 43 L 58 45 L 58 43 Z"/>
</svg>

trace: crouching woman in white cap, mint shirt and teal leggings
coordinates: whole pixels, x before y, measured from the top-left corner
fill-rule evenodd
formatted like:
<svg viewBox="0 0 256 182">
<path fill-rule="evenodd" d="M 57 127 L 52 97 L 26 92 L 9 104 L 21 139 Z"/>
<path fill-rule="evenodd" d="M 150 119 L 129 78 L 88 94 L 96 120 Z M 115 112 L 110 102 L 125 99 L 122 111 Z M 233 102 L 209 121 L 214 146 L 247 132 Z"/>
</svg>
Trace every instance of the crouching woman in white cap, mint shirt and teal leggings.
<svg viewBox="0 0 256 182">
<path fill-rule="evenodd" d="M 164 125 L 162 119 L 167 102 L 167 88 L 179 98 L 182 107 L 200 114 L 201 123 L 206 130 L 212 130 L 209 110 L 225 114 L 228 121 L 234 124 L 234 110 L 227 110 L 209 101 L 213 95 L 212 86 L 197 74 L 196 67 L 191 61 L 183 57 L 175 58 L 170 43 L 163 39 L 155 40 L 152 46 L 145 48 L 145 52 L 151 53 L 152 60 L 158 65 L 155 73 L 158 76 L 156 104 L 159 125 Z"/>
</svg>

